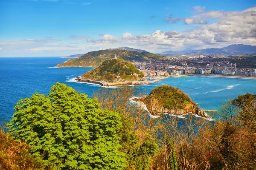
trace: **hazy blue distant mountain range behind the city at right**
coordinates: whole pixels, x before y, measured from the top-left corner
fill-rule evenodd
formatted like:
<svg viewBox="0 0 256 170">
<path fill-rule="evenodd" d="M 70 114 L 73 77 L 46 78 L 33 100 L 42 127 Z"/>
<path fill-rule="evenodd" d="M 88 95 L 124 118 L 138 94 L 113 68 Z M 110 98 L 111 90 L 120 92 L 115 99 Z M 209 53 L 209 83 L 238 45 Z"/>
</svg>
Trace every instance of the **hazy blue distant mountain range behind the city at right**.
<svg viewBox="0 0 256 170">
<path fill-rule="evenodd" d="M 201 50 L 193 50 L 191 48 L 186 48 L 181 51 L 165 51 L 160 53 L 165 56 L 170 56 L 173 54 L 184 54 L 188 56 L 192 55 L 225 55 L 225 56 L 233 56 L 233 55 L 242 55 L 242 54 L 255 54 L 256 53 L 256 45 L 244 45 L 244 44 L 233 44 L 224 48 L 206 48 Z"/>
</svg>

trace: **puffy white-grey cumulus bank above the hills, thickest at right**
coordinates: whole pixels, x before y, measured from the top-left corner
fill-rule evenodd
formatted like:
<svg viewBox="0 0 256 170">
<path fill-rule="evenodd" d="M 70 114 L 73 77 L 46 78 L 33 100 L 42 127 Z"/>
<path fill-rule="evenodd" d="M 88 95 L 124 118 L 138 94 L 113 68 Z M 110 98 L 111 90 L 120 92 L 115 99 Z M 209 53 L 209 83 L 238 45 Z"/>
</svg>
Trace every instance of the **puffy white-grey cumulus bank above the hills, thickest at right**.
<svg viewBox="0 0 256 170">
<path fill-rule="evenodd" d="M 137 45 L 137 47 L 143 46 L 141 48 L 145 50 L 149 49 L 148 51 L 186 47 L 219 48 L 236 43 L 256 45 L 256 18 L 253 14 L 256 14 L 256 7 L 244 11 L 206 11 L 191 18 L 172 18 L 171 16 L 166 19 L 166 22 L 182 20 L 186 24 L 206 24 L 207 20 L 204 20 L 204 17 L 215 18 L 218 22 L 181 32 L 157 30 L 144 35 L 124 33 L 120 38 L 105 34 L 101 39 L 88 42 L 97 45 Z"/>
</svg>

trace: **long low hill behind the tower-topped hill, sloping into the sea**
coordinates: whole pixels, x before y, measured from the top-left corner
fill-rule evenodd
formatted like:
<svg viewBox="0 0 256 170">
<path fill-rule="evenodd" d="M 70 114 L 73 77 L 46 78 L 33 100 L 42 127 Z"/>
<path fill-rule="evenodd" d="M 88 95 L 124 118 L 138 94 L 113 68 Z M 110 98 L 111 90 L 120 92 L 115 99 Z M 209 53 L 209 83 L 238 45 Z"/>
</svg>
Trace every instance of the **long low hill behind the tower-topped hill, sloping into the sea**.
<svg viewBox="0 0 256 170">
<path fill-rule="evenodd" d="M 163 59 L 164 56 L 152 54 L 147 51 L 128 51 L 128 50 L 118 50 L 118 49 L 108 49 L 91 51 L 87 54 L 82 55 L 76 59 L 69 59 L 64 63 L 56 65 L 56 67 L 97 67 L 102 64 L 102 62 L 112 59 L 114 57 L 118 59 L 124 59 L 125 61 L 137 61 L 145 62 L 151 59 Z"/>
</svg>

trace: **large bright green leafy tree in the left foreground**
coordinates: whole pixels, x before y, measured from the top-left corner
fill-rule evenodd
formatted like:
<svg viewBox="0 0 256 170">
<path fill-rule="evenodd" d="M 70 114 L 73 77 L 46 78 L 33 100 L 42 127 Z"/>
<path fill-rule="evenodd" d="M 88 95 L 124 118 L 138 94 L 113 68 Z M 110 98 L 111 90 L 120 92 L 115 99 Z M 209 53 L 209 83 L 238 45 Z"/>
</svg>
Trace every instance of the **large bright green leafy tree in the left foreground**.
<svg viewBox="0 0 256 170">
<path fill-rule="evenodd" d="M 45 165 L 52 162 L 65 170 L 125 167 L 117 134 L 120 116 L 99 109 L 96 98 L 57 82 L 48 96 L 21 99 L 15 111 L 9 133 L 30 144 L 33 155 L 44 155 Z"/>
</svg>

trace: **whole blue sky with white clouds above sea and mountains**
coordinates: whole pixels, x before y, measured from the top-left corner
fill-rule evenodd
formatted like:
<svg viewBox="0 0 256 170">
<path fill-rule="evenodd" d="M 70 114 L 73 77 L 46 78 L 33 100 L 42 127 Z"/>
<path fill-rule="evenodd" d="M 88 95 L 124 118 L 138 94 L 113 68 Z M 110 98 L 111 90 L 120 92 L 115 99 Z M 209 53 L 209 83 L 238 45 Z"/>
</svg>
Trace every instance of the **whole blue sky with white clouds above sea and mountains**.
<svg viewBox="0 0 256 170">
<path fill-rule="evenodd" d="M 0 0 L 0 57 L 256 45 L 255 0 Z"/>
</svg>

